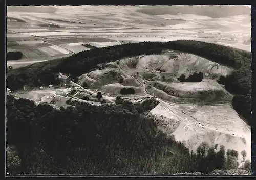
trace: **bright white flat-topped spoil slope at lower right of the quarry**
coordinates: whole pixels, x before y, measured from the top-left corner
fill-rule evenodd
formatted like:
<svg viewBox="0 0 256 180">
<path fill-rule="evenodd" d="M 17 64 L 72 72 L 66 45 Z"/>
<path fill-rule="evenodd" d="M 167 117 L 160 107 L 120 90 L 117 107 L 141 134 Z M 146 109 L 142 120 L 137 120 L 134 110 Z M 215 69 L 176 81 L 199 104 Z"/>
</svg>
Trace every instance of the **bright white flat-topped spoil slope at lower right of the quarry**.
<svg viewBox="0 0 256 180">
<path fill-rule="evenodd" d="M 224 145 L 227 149 L 251 153 L 251 130 L 230 104 L 209 106 L 160 104 L 151 111 L 160 128 L 195 151 L 202 143 Z M 239 154 L 239 159 L 242 160 Z M 250 156 L 247 157 L 250 159 Z"/>
</svg>

